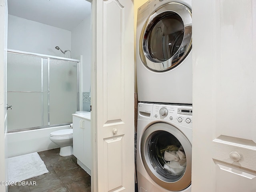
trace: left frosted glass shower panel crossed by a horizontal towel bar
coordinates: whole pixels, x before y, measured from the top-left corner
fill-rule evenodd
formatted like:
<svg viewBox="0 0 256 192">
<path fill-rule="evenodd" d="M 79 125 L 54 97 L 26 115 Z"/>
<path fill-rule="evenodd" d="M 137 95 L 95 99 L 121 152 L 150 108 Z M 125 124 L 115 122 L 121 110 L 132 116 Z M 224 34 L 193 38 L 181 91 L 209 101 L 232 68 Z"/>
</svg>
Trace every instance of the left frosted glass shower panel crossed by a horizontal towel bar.
<svg viewBox="0 0 256 192">
<path fill-rule="evenodd" d="M 48 59 L 8 53 L 8 130 L 48 126 Z"/>
</svg>

